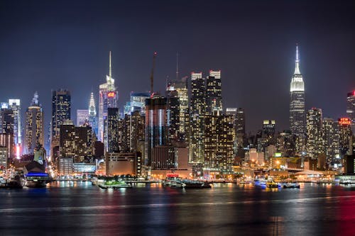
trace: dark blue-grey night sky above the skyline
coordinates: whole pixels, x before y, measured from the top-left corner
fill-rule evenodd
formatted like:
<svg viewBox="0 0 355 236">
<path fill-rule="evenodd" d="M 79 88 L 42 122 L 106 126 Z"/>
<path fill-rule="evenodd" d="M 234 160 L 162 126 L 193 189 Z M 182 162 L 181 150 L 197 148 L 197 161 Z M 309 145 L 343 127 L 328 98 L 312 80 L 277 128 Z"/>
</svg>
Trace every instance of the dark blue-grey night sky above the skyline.
<svg viewBox="0 0 355 236">
<path fill-rule="evenodd" d="M 355 89 L 355 1 L 0 1 L 0 101 L 38 91 L 48 125 L 51 90 L 72 93 L 72 119 L 109 72 L 119 106 L 130 91 L 155 90 L 180 74 L 222 70 L 224 108 L 246 110 L 247 131 L 275 119 L 288 129 L 295 44 L 306 108 L 346 114 Z"/>
</svg>

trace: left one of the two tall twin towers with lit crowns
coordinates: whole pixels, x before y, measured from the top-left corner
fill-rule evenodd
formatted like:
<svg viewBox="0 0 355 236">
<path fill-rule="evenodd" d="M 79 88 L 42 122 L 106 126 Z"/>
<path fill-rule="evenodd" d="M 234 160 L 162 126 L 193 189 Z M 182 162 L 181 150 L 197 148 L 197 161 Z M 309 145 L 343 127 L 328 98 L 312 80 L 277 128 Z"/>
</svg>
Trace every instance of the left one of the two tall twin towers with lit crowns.
<svg viewBox="0 0 355 236">
<path fill-rule="evenodd" d="M 205 80 L 202 72 L 191 73 L 190 99 L 190 162 L 204 163 L 204 116 L 206 113 Z"/>
</svg>

